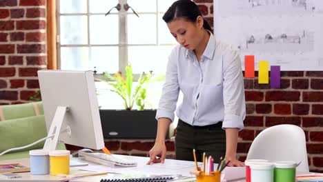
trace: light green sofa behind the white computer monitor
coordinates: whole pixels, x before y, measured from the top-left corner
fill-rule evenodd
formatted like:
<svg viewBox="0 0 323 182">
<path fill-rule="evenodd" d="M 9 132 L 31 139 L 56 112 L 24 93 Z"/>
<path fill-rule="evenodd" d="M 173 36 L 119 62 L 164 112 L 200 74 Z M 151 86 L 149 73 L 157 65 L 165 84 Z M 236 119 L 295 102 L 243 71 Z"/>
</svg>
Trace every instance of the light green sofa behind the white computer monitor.
<svg viewBox="0 0 323 182">
<path fill-rule="evenodd" d="M 47 136 L 43 105 L 41 102 L 0 105 L 0 153 L 10 148 L 34 143 Z M 24 150 L 12 151 L 0 156 L 1 160 L 29 157 L 29 150 L 41 149 L 45 142 Z M 59 143 L 57 149 L 64 150 Z"/>
</svg>

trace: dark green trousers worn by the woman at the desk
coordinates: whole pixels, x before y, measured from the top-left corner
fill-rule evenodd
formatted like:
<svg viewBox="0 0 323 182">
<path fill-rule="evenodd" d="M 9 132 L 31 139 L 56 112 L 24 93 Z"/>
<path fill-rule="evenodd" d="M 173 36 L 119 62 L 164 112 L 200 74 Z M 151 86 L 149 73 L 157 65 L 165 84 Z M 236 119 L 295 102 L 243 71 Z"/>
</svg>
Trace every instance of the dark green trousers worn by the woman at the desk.
<svg viewBox="0 0 323 182">
<path fill-rule="evenodd" d="M 215 125 L 192 126 L 179 119 L 175 135 L 175 155 L 177 160 L 194 161 L 193 149 L 197 161 L 202 161 L 203 152 L 212 156 L 218 163 L 226 155 L 226 132 L 222 122 Z"/>
</svg>

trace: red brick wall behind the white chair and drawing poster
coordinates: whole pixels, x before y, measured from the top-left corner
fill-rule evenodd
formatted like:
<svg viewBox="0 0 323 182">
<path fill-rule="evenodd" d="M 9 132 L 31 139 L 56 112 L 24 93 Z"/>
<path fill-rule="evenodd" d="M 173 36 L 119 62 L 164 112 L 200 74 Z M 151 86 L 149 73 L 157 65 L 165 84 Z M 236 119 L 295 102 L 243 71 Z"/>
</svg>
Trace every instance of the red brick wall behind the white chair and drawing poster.
<svg viewBox="0 0 323 182">
<path fill-rule="evenodd" d="M 213 27 L 213 0 L 195 2 Z M 281 89 L 259 85 L 257 78 L 244 79 L 247 114 L 245 128 L 239 132 L 238 157 L 246 159 L 253 139 L 265 128 L 293 124 L 305 132 L 310 170 L 323 172 L 323 71 L 281 75 Z"/>
</svg>

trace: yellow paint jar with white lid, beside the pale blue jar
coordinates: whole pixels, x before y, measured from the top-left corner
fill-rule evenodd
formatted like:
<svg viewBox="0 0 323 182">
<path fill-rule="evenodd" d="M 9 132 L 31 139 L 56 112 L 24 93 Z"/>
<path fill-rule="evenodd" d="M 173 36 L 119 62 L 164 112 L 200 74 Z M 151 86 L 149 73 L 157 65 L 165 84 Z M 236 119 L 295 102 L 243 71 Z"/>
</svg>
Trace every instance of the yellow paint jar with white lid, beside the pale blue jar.
<svg viewBox="0 0 323 182">
<path fill-rule="evenodd" d="M 54 150 L 49 152 L 50 175 L 70 173 L 70 150 Z"/>
</svg>

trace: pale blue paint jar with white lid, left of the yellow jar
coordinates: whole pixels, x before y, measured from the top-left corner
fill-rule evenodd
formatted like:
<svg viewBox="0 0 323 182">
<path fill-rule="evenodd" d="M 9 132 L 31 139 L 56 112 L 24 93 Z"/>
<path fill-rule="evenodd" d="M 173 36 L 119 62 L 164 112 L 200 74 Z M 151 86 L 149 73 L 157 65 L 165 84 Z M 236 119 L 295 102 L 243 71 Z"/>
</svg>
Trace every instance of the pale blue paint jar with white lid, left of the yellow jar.
<svg viewBox="0 0 323 182">
<path fill-rule="evenodd" d="M 47 150 L 30 150 L 30 174 L 49 174 L 50 162 Z"/>
</svg>

